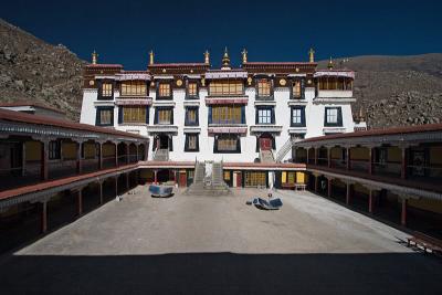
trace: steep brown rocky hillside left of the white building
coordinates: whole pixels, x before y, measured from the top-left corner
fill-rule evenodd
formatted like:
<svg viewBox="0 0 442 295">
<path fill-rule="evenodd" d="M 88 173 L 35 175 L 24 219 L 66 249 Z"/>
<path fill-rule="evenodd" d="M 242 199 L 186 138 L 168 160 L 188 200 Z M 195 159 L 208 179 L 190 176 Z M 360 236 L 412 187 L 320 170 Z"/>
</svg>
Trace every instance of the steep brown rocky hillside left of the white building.
<svg viewBox="0 0 442 295">
<path fill-rule="evenodd" d="M 0 103 L 32 101 L 77 120 L 81 61 L 63 45 L 51 45 L 0 19 Z"/>
</svg>

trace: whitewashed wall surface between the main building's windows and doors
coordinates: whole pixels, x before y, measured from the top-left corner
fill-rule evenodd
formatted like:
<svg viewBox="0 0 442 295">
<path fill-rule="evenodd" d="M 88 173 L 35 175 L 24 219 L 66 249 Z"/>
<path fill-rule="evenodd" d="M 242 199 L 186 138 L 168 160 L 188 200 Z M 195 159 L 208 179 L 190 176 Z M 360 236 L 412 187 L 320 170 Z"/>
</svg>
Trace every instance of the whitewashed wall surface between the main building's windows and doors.
<svg viewBox="0 0 442 295">
<path fill-rule="evenodd" d="M 255 125 L 255 88 L 246 87 L 245 94 L 249 96 L 249 103 L 245 106 L 245 119 L 248 124 L 246 136 L 241 137 L 241 154 L 213 154 L 213 136 L 208 136 L 208 107 L 206 106 L 204 98 L 207 96 L 207 88 L 200 88 L 200 99 L 199 99 L 199 148 L 198 152 L 185 152 L 185 89 L 173 89 L 173 125 L 178 127 L 178 135 L 173 136 L 173 151 L 169 154 L 171 160 L 175 161 L 194 161 L 198 160 L 224 160 L 224 161 L 239 161 L 239 162 L 252 162 L 259 157 L 259 152 L 255 151 L 256 148 L 256 137 L 251 135 L 250 126 Z M 114 93 L 115 98 L 119 96 L 118 92 Z M 149 89 L 149 96 L 152 97 L 155 104 L 156 91 L 155 88 Z M 341 97 L 347 97 L 348 93 L 343 92 Z M 299 105 L 305 105 L 305 116 L 306 116 L 306 138 L 322 136 L 324 135 L 324 113 L 326 106 L 340 106 L 343 110 L 343 125 L 340 128 L 345 131 L 354 130 L 354 122 L 351 116 L 351 106 L 349 103 L 336 103 L 336 98 L 339 97 L 339 93 L 334 94 L 334 102 L 327 103 L 327 101 L 322 99 L 322 102 L 315 102 L 315 88 L 305 88 L 305 101 L 299 103 Z M 115 103 L 109 101 L 97 102 L 97 91 L 96 89 L 84 89 L 83 93 L 83 104 L 81 123 L 95 125 L 95 114 L 96 104 L 107 104 L 112 105 Z M 288 106 L 290 89 L 288 87 L 276 87 L 274 91 L 275 105 L 275 125 L 282 126 L 282 133 L 275 136 L 276 150 L 274 154 L 283 147 L 283 145 L 290 139 L 290 125 L 291 125 L 291 107 Z M 189 102 L 189 101 L 188 101 Z M 192 101 L 196 102 L 196 101 Z M 293 101 L 292 101 L 293 102 Z M 154 126 L 155 107 L 149 107 L 149 126 Z M 152 159 L 151 146 L 155 145 L 154 136 L 148 133 L 147 126 L 135 126 L 135 125 L 122 125 L 118 126 L 118 107 L 114 108 L 114 126 L 116 129 L 124 131 L 138 130 L 140 135 L 148 136 L 150 138 L 151 145 L 149 146 L 149 159 Z M 291 152 L 287 152 L 284 159 L 288 159 Z"/>
</svg>

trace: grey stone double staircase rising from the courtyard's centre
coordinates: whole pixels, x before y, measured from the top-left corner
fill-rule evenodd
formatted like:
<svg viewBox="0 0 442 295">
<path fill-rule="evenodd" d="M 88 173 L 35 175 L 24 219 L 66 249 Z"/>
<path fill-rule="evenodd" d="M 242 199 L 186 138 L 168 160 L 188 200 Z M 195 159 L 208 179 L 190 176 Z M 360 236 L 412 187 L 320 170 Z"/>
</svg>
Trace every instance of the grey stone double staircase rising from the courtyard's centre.
<svg viewBox="0 0 442 295">
<path fill-rule="evenodd" d="M 224 182 L 222 164 L 213 162 L 211 176 L 206 176 L 206 164 L 197 162 L 194 167 L 193 183 L 186 190 L 186 194 L 193 196 L 225 196 L 231 191 Z"/>
</svg>

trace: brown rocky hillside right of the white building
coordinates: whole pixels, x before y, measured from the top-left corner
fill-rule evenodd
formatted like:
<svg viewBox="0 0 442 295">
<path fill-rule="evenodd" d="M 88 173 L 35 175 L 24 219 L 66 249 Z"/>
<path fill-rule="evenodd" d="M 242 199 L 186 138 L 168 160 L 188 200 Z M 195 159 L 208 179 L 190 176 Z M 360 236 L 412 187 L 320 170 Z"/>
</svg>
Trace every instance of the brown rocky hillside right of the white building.
<svg viewBox="0 0 442 295">
<path fill-rule="evenodd" d="M 442 122 L 442 53 L 336 60 L 339 67 L 357 72 L 354 112 L 362 108 L 370 127 Z"/>
</svg>

